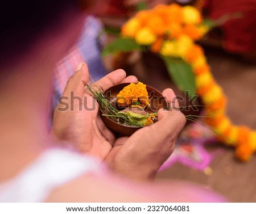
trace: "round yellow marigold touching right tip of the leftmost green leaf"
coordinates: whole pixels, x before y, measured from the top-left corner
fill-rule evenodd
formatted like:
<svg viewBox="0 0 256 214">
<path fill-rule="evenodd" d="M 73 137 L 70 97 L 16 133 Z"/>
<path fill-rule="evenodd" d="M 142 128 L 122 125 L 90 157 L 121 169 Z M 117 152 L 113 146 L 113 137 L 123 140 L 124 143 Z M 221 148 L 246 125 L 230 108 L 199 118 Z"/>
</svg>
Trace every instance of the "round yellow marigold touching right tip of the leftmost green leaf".
<svg viewBox="0 0 256 214">
<path fill-rule="evenodd" d="M 140 45 L 151 45 L 156 40 L 156 35 L 149 28 L 142 28 L 135 35 L 135 41 Z"/>
</svg>

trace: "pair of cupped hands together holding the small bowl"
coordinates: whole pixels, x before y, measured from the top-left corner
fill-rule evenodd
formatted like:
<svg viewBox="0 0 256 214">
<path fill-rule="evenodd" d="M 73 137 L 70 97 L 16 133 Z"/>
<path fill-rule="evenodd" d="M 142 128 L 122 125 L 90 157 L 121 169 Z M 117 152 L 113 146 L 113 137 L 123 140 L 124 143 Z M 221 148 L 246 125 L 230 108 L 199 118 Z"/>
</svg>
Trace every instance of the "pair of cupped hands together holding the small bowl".
<svg viewBox="0 0 256 214">
<path fill-rule="evenodd" d="M 56 139 L 104 160 L 115 173 L 133 179 L 154 178 L 173 152 L 185 116 L 180 111 L 159 110 L 157 123 L 139 129 L 130 137 L 116 138 L 101 120 L 97 102 L 85 88 L 89 80 L 86 64 L 79 67 L 69 79 L 53 115 L 52 132 Z M 125 77 L 123 70 L 115 70 L 94 86 L 104 91 L 118 83 L 138 81 L 134 76 Z M 175 98 L 171 89 L 164 90 L 163 96 L 169 103 Z"/>
</svg>

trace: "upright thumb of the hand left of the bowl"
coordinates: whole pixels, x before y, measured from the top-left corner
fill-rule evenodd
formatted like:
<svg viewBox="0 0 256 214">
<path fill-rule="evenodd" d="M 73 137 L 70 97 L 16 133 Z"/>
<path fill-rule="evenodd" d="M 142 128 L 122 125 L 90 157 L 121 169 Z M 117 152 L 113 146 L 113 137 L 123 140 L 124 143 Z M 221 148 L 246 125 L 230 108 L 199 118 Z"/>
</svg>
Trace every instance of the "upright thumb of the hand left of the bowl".
<svg viewBox="0 0 256 214">
<path fill-rule="evenodd" d="M 77 66 L 76 72 L 68 79 L 67 85 L 65 86 L 63 96 L 70 96 L 73 91 L 75 96 L 84 95 L 84 88 L 89 80 L 88 66 L 81 62 Z"/>
</svg>

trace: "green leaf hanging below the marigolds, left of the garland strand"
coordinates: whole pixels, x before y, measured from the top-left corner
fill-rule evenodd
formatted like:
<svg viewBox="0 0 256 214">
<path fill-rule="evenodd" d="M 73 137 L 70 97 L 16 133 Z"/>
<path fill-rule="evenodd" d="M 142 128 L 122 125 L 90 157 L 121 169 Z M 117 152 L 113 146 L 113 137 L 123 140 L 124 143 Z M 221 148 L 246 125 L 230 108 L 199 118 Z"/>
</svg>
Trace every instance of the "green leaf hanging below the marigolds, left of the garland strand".
<svg viewBox="0 0 256 214">
<path fill-rule="evenodd" d="M 190 97 L 196 95 L 195 76 L 192 73 L 191 66 L 183 60 L 173 60 L 166 56 L 162 56 L 162 58 L 172 81 L 179 90 L 188 91 Z"/>
</svg>

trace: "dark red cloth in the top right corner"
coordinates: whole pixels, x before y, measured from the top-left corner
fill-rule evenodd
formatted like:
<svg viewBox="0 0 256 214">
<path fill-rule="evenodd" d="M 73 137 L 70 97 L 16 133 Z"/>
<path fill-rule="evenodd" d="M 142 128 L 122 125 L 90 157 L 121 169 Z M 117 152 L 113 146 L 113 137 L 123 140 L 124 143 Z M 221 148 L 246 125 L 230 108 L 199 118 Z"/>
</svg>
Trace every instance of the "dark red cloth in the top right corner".
<svg viewBox="0 0 256 214">
<path fill-rule="evenodd" d="M 256 1 L 255 0 L 205 0 L 209 17 L 220 18 L 225 14 L 241 11 L 243 17 L 221 26 L 224 30 L 224 48 L 236 53 L 256 52 Z"/>
</svg>

